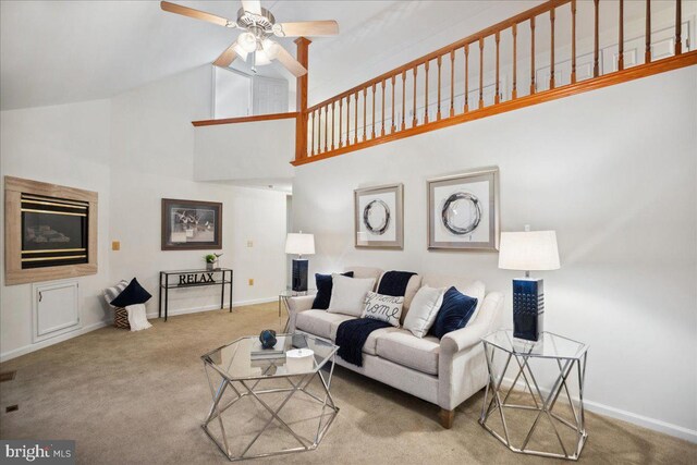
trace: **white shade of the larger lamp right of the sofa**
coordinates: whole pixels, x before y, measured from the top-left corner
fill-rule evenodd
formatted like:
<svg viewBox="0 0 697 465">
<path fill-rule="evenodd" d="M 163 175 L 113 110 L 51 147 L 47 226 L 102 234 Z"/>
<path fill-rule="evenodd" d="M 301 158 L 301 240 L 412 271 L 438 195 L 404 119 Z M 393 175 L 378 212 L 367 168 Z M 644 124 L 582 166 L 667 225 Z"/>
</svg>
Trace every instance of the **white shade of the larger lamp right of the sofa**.
<svg viewBox="0 0 697 465">
<path fill-rule="evenodd" d="M 557 232 L 526 231 L 501 233 L 499 268 L 504 270 L 558 270 Z"/>
</svg>

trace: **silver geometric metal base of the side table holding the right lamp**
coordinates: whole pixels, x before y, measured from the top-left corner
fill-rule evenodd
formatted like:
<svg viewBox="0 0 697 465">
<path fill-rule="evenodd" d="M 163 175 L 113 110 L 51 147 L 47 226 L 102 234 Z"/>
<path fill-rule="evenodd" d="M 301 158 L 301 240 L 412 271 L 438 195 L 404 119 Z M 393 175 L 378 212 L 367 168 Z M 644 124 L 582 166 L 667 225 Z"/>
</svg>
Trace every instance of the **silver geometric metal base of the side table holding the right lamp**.
<svg viewBox="0 0 697 465">
<path fill-rule="evenodd" d="M 552 383 L 551 390 L 546 393 L 540 389 L 535 374 L 533 372 L 533 369 L 530 368 L 530 365 L 528 363 L 529 359 L 535 355 L 508 352 L 505 353 L 505 363 L 503 365 L 503 369 L 501 369 L 499 374 L 497 374 L 493 366 L 493 357 L 497 350 L 499 350 L 497 346 L 487 344 L 485 341 L 485 355 L 487 358 L 487 366 L 489 368 L 489 383 L 487 384 L 487 389 L 485 392 L 479 424 L 513 452 L 540 455 L 546 457 L 566 458 L 572 461 L 578 460 L 580 451 L 583 450 L 584 444 L 586 443 L 586 439 L 588 438 L 585 427 L 583 402 L 587 354 L 584 353 L 578 358 L 552 358 L 552 362 L 557 362 L 555 366 L 559 369 L 559 375 Z M 514 360 L 515 364 L 512 364 L 512 360 Z M 509 388 L 508 392 L 505 392 L 506 389 L 502 388 L 501 384 L 509 366 L 513 367 L 516 376 L 513 380 L 513 383 L 511 384 L 511 388 Z M 570 393 L 570 386 L 567 384 L 570 375 L 572 375 L 574 370 L 576 370 L 578 379 L 578 397 L 575 402 Z M 522 379 L 524 382 L 524 386 L 526 388 L 525 392 L 529 393 L 530 397 L 533 399 L 533 405 L 521 405 L 508 402 L 511 392 L 514 390 L 519 379 Z M 562 418 L 552 411 L 554 408 L 554 405 L 557 405 L 560 396 L 568 402 L 568 405 L 571 406 L 571 411 L 573 413 L 574 421 L 568 421 L 567 419 Z M 535 420 L 530 426 L 527 436 L 522 440 L 522 442 L 516 441 L 516 443 L 521 444 L 519 446 L 513 445 L 514 438 L 512 438 L 509 426 L 506 425 L 505 411 L 508 408 L 537 412 L 537 416 L 535 417 Z M 501 419 L 501 424 L 503 425 L 503 436 L 494 431 L 493 428 L 488 425 L 488 420 L 494 413 L 498 413 L 498 416 Z M 530 438 L 539 426 L 540 418 L 542 418 L 542 416 L 549 419 L 549 424 L 552 426 L 557 440 L 561 445 L 562 453 L 543 452 L 529 449 L 528 444 Z M 557 424 L 554 420 L 557 420 Z M 571 428 L 574 431 L 576 443 L 573 450 L 567 449 L 567 446 L 564 444 L 564 441 L 562 441 L 562 437 L 559 432 L 560 430 L 557 429 L 558 426 Z"/>
</svg>

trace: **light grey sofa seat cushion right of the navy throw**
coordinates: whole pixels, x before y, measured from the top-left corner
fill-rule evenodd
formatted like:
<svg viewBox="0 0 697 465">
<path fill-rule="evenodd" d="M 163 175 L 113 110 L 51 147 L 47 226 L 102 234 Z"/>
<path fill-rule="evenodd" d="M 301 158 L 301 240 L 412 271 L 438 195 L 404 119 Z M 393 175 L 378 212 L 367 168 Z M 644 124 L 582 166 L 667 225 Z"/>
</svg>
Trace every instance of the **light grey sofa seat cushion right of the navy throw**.
<svg viewBox="0 0 697 465">
<path fill-rule="evenodd" d="M 406 330 L 394 330 L 377 338 L 376 353 L 407 368 L 438 375 L 440 343 L 433 336 L 419 339 Z"/>
</svg>

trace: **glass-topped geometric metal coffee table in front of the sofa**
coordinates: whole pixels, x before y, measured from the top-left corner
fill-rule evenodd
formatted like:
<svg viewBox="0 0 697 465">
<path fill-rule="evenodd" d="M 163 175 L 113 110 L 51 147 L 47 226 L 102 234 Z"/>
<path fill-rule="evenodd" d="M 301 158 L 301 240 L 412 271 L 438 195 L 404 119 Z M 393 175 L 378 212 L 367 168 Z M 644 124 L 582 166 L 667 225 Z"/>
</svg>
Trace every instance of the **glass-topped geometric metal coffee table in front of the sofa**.
<svg viewBox="0 0 697 465">
<path fill-rule="evenodd" d="M 262 348 L 254 335 L 203 355 L 212 404 L 201 427 L 231 461 L 316 449 L 339 412 L 338 348 L 307 334 L 278 334 Z"/>
</svg>

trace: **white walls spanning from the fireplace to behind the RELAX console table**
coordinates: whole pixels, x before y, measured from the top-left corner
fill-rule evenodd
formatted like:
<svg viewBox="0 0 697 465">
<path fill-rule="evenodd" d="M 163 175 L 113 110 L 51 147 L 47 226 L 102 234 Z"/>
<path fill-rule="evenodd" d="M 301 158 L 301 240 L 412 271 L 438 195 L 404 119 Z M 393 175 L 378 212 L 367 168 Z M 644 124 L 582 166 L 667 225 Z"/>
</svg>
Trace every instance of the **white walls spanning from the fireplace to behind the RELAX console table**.
<svg viewBox="0 0 697 465">
<path fill-rule="evenodd" d="M 137 277 L 154 295 L 152 315 L 160 270 L 204 266 L 208 250 L 160 250 L 163 197 L 223 203 L 221 265 L 235 270 L 233 305 L 274 301 L 285 287 L 286 194 L 194 181 L 191 122 L 210 118 L 211 82 L 210 66 L 200 66 L 110 100 L 0 113 L 3 175 L 99 193 L 99 272 L 78 278 L 86 330 L 112 318 L 103 287 Z M 0 359 L 8 359 L 41 345 L 30 343 L 30 285 L 2 281 Z M 173 291 L 170 315 L 219 303 L 216 287 Z"/>
</svg>

